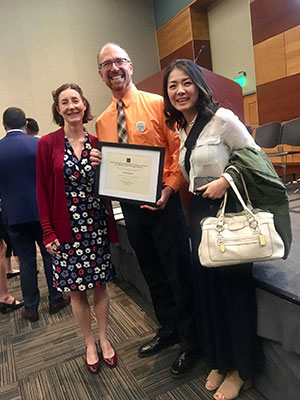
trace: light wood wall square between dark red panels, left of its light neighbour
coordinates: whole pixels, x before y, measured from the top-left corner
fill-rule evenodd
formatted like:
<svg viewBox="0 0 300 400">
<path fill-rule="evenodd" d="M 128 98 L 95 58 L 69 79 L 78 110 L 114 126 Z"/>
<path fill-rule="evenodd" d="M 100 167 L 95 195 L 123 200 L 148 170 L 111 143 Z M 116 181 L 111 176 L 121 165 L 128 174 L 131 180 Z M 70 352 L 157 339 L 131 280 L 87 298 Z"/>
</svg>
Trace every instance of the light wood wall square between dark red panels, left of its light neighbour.
<svg viewBox="0 0 300 400">
<path fill-rule="evenodd" d="M 256 85 L 286 76 L 283 33 L 254 46 Z"/>
</svg>

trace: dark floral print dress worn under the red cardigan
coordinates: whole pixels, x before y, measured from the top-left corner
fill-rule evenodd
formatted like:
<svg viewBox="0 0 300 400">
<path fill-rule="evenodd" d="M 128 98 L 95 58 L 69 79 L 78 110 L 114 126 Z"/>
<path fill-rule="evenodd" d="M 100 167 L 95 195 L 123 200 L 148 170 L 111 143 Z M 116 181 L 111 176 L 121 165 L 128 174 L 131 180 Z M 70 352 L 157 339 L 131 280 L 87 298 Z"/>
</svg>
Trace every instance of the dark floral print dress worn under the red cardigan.
<svg viewBox="0 0 300 400">
<path fill-rule="evenodd" d="M 64 178 L 73 242 L 61 243 L 60 254 L 53 257 L 53 285 L 64 292 L 92 289 L 113 277 L 107 211 L 102 201 L 93 196 L 91 149 L 86 134 L 78 160 L 65 138 Z"/>
</svg>

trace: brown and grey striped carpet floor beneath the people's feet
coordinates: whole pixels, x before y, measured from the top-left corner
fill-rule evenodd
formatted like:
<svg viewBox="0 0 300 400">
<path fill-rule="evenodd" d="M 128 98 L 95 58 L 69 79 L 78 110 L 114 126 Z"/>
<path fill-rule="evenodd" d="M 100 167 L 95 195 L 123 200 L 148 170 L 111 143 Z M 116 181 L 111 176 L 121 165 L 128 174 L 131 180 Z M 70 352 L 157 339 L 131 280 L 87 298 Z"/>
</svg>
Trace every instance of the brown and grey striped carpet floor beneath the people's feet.
<svg viewBox="0 0 300 400">
<path fill-rule="evenodd" d="M 113 370 L 102 365 L 99 375 L 90 375 L 85 367 L 84 341 L 71 307 L 49 314 L 41 265 L 39 269 L 39 321 L 24 320 L 20 310 L 0 314 L 1 400 L 212 399 L 204 388 L 208 367 L 203 359 L 188 377 L 175 380 L 169 368 L 178 353 L 176 346 L 150 358 L 137 357 L 139 345 L 154 335 L 157 325 L 151 304 L 127 283 L 110 284 L 108 333 L 119 364 Z M 20 299 L 19 278 L 9 280 L 9 287 Z M 264 397 L 251 388 L 239 399 Z"/>
</svg>

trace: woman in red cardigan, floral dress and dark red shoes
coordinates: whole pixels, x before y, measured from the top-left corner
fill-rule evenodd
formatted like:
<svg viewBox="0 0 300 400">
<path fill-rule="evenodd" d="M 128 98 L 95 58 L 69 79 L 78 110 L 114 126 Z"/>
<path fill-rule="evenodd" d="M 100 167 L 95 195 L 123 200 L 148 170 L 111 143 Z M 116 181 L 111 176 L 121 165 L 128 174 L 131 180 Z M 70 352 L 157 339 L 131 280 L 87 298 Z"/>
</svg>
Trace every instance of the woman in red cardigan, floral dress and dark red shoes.
<svg viewBox="0 0 300 400">
<path fill-rule="evenodd" d="M 53 260 L 54 285 L 71 296 L 75 319 L 85 338 L 86 365 L 99 371 L 100 360 L 91 329 L 87 291 L 93 291 L 99 343 L 104 362 L 117 365 L 107 338 L 109 297 L 106 283 L 113 277 L 107 211 L 93 196 L 95 170 L 90 152 L 96 137 L 84 124 L 93 117 L 77 84 L 64 84 L 53 92 L 52 112 L 60 126 L 43 136 L 37 151 L 37 197 L 43 241 Z"/>
</svg>

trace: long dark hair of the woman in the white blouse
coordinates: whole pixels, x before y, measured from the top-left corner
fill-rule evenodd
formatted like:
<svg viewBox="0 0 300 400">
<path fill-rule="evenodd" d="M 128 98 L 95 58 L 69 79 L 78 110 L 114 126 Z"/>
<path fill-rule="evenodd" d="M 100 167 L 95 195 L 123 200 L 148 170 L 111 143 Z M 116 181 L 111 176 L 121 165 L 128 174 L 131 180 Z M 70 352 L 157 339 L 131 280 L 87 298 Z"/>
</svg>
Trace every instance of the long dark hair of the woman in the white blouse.
<svg viewBox="0 0 300 400">
<path fill-rule="evenodd" d="M 174 130 L 174 125 L 179 128 L 186 127 L 186 120 L 183 114 L 176 110 L 170 102 L 168 95 L 168 79 L 174 68 L 182 69 L 193 81 L 198 88 L 198 100 L 195 104 L 198 113 L 202 115 L 211 115 L 218 109 L 218 103 L 212 99 L 212 91 L 207 86 L 203 77 L 201 68 L 195 62 L 187 59 L 178 59 L 169 64 L 165 70 L 163 89 L 164 89 L 164 114 L 166 116 L 166 124 L 169 129 Z"/>
</svg>

